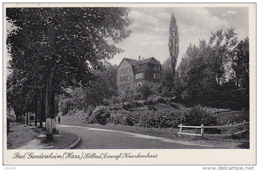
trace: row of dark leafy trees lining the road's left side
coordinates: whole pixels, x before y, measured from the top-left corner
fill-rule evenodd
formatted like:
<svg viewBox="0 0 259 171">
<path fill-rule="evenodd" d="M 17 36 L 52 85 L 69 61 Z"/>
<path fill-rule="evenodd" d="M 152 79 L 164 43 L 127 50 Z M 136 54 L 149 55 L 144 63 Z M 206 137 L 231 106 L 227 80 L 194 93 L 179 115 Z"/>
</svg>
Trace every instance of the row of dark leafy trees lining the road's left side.
<svg viewBox="0 0 259 171">
<path fill-rule="evenodd" d="M 129 8 L 7 8 L 16 26 L 7 36 L 11 74 L 7 78 L 7 104 L 16 116 L 34 103 L 35 121 L 46 119 L 46 140 L 55 131 L 55 94 L 68 87 L 87 85 L 91 68 L 122 52 L 115 47 L 130 36 Z M 112 38 L 110 44 L 107 38 Z M 37 107 L 37 106 L 41 107 Z M 40 108 L 40 111 L 37 109 Z M 40 115 L 39 115 L 40 113 Z M 52 130 L 53 128 L 53 130 Z"/>
</svg>

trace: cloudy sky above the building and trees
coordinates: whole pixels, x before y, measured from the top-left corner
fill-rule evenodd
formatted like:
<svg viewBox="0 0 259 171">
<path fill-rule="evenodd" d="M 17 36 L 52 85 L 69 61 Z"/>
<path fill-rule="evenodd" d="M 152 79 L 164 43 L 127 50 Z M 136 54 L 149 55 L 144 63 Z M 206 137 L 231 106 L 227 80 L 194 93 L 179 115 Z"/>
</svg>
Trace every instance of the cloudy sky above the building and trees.
<svg viewBox="0 0 259 171">
<path fill-rule="evenodd" d="M 208 42 L 211 31 L 227 31 L 232 26 L 236 28 L 239 41 L 249 36 L 248 7 L 131 8 L 129 18 L 134 23 L 129 29 L 132 34 L 116 45 L 124 53 L 116 54 L 108 61 L 119 65 L 123 58 L 138 60 L 140 55 L 141 59 L 154 57 L 163 63 L 169 58 L 168 36 L 172 13 L 176 17 L 179 33 L 178 64 L 190 43 L 198 46 L 199 39 Z"/>
</svg>

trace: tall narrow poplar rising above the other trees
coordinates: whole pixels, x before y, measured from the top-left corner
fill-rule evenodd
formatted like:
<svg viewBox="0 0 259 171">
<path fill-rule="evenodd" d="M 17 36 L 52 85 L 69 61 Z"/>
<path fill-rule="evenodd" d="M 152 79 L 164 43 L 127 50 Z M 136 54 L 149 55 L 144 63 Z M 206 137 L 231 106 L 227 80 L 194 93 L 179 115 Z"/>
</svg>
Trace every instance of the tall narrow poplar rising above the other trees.
<svg viewBox="0 0 259 171">
<path fill-rule="evenodd" d="M 174 14 L 171 15 L 171 22 L 169 25 L 169 54 L 172 60 L 172 85 L 174 85 L 175 69 L 177 63 L 177 57 L 179 54 L 179 37 L 178 26 L 176 25 L 176 18 Z"/>
</svg>

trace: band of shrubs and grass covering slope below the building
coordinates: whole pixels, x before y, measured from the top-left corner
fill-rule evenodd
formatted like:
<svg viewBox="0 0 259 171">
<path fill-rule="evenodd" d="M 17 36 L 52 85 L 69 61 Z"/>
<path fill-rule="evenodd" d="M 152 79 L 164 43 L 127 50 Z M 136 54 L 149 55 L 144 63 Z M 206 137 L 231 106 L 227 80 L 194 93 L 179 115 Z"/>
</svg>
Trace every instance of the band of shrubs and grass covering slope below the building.
<svg viewBox="0 0 259 171">
<path fill-rule="evenodd" d="M 206 108 L 201 105 L 187 108 L 179 103 L 158 102 L 135 107 L 126 106 L 96 106 L 85 111 L 73 109 L 62 116 L 65 123 L 76 125 L 100 124 L 105 125 L 107 118 L 111 118 L 112 124 L 137 126 L 146 128 L 178 128 L 179 124 L 191 126 L 218 126 L 226 125 L 231 117 L 231 123 L 249 121 L 249 113 L 246 111 L 232 111 Z"/>
</svg>

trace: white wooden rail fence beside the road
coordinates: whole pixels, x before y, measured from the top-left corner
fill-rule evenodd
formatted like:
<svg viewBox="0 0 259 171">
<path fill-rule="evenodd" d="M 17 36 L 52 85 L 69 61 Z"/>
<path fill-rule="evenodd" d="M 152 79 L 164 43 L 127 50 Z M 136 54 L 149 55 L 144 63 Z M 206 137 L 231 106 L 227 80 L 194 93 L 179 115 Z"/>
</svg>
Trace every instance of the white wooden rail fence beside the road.
<svg viewBox="0 0 259 171">
<path fill-rule="evenodd" d="M 182 124 L 178 125 L 178 127 L 180 127 L 180 131 L 178 132 L 179 136 L 181 137 L 181 134 L 186 134 L 186 135 L 196 135 L 196 136 L 231 136 L 233 134 L 239 134 L 242 132 L 245 132 L 249 129 L 246 129 L 246 124 L 249 122 L 246 122 L 246 120 L 243 121 L 243 123 L 241 124 L 236 124 L 236 125 L 232 125 L 229 124 L 229 126 L 205 126 L 202 124 L 200 126 L 183 126 Z M 237 126 L 242 126 L 243 125 L 243 131 L 239 131 L 236 133 L 232 132 L 232 128 L 233 127 L 237 127 Z M 183 127 L 187 127 L 187 128 L 200 128 L 200 134 L 191 134 L 191 133 L 184 133 L 182 132 L 182 128 Z M 229 134 L 204 134 L 204 128 L 229 128 Z"/>
</svg>

